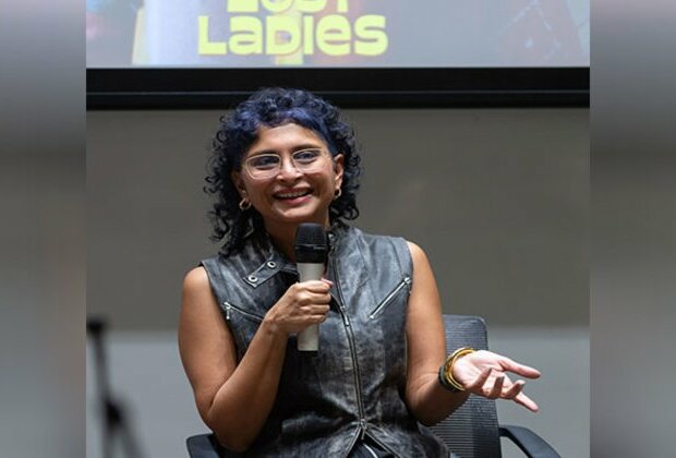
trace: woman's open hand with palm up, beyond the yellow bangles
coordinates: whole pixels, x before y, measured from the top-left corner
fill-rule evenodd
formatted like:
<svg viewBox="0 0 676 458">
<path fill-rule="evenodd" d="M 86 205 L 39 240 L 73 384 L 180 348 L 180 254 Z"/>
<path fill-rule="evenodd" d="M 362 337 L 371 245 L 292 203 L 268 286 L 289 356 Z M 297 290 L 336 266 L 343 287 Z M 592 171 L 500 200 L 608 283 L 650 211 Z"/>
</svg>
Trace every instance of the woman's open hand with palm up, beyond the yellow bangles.
<svg viewBox="0 0 676 458">
<path fill-rule="evenodd" d="M 533 412 L 540 408 L 522 393 L 522 379 L 512 382 L 506 372 L 527 378 L 540 377 L 536 369 L 520 364 L 509 358 L 486 350 L 479 350 L 459 358 L 452 367 L 452 376 L 468 393 L 490 399 L 512 399 Z"/>
</svg>

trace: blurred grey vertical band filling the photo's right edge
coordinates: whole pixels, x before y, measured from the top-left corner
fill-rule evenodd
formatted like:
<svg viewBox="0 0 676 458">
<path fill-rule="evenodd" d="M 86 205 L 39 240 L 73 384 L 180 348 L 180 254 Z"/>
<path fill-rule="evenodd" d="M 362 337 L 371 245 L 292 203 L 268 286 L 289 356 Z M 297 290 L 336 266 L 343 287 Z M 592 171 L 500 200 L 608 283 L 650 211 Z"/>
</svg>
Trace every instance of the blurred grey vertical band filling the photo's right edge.
<svg viewBox="0 0 676 458">
<path fill-rule="evenodd" d="M 592 456 L 672 457 L 676 4 L 592 4 Z"/>
</svg>

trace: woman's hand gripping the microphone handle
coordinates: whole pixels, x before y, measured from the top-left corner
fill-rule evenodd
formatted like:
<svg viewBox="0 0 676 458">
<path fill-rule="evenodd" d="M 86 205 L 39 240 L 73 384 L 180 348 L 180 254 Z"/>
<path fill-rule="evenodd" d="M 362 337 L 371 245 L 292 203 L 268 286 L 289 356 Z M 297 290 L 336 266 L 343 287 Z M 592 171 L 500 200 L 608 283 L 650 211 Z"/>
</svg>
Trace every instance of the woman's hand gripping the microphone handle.
<svg viewBox="0 0 676 458">
<path fill-rule="evenodd" d="M 265 322 L 286 335 L 326 320 L 331 281 L 325 278 L 293 284 L 266 313 Z"/>
</svg>

